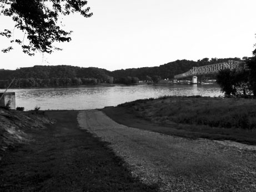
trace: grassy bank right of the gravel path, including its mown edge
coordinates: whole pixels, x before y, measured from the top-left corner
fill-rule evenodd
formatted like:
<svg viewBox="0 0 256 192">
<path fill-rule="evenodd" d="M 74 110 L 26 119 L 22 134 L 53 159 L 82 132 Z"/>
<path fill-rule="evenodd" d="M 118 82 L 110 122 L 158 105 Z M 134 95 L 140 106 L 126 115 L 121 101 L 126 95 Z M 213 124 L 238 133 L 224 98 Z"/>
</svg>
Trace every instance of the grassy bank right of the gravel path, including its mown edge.
<svg viewBox="0 0 256 192">
<path fill-rule="evenodd" d="M 256 144 L 256 100 L 208 97 L 140 99 L 103 109 L 116 122 L 186 138 Z"/>
</svg>

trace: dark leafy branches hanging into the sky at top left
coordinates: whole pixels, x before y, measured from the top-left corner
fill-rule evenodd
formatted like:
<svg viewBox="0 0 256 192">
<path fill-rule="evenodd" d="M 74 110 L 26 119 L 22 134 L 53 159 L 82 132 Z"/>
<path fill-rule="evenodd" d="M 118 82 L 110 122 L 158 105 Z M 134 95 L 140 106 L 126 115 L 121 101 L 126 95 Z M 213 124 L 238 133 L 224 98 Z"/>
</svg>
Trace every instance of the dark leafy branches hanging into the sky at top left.
<svg viewBox="0 0 256 192">
<path fill-rule="evenodd" d="M 12 17 L 16 23 L 15 28 L 21 29 L 28 39 L 28 44 L 24 44 L 23 39 L 13 39 L 21 45 L 23 52 L 34 55 L 34 52 L 52 53 L 54 49 L 53 42 L 69 42 L 72 31 L 64 31 L 58 24 L 59 14 L 64 16 L 70 13 L 78 12 L 83 17 L 91 17 L 87 1 L 83 0 L 0 0 L 0 15 Z M 4 29 L 0 35 L 10 38 L 12 32 Z M 8 47 L 2 52 L 6 53 L 13 49 Z"/>
</svg>

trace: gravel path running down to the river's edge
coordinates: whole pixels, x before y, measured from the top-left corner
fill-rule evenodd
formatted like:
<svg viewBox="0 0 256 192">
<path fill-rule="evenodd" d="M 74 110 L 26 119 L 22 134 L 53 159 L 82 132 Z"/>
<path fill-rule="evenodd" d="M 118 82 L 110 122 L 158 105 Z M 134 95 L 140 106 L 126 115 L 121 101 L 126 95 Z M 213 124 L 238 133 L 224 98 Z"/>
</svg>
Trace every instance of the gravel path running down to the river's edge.
<svg viewBox="0 0 256 192">
<path fill-rule="evenodd" d="M 78 122 L 111 143 L 133 175 L 161 191 L 256 191 L 254 150 L 129 128 L 98 110 L 79 112 Z"/>
</svg>

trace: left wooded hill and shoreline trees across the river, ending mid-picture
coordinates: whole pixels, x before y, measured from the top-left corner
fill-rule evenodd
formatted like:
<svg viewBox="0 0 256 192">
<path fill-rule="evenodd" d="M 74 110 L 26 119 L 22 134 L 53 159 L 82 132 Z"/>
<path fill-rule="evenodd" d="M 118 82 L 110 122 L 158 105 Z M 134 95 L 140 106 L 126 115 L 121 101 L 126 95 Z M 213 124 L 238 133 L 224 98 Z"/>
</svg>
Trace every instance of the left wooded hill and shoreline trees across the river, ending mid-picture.
<svg viewBox="0 0 256 192">
<path fill-rule="evenodd" d="M 81 68 L 70 65 L 41 66 L 0 70 L 0 88 L 6 88 L 16 78 L 11 88 L 70 87 L 113 83 L 108 71 L 99 68 Z"/>
</svg>

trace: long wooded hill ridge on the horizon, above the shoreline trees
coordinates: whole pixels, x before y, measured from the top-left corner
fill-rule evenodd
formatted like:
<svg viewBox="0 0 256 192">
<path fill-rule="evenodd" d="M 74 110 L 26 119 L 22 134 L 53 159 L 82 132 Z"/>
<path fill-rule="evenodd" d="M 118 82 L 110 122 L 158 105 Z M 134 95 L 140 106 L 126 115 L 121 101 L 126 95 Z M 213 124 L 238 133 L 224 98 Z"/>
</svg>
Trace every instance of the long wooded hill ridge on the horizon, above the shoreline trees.
<svg viewBox="0 0 256 192">
<path fill-rule="evenodd" d="M 155 75 L 163 79 L 172 79 L 174 75 L 187 72 L 192 67 L 227 62 L 228 60 L 241 60 L 240 58 L 203 58 L 197 62 L 193 60 L 175 60 L 158 67 L 128 68 L 109 71 L 97 67 L 74 67 L 72 65 L 34 65 L 16 70 L 0 70 L 0 80 L 16 79 L 52 79 L 52 78 L 86 78 L 97 79 L 98 82 L 115 82 L 115 79 L 122 77 L 137 77 L 146 80 L 147 77 Z"/>
</svg>

